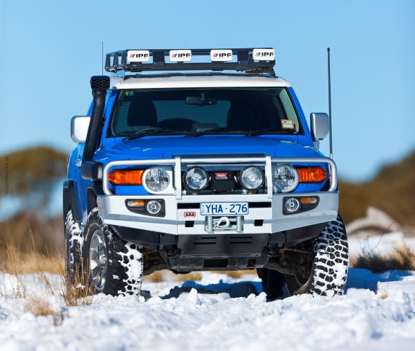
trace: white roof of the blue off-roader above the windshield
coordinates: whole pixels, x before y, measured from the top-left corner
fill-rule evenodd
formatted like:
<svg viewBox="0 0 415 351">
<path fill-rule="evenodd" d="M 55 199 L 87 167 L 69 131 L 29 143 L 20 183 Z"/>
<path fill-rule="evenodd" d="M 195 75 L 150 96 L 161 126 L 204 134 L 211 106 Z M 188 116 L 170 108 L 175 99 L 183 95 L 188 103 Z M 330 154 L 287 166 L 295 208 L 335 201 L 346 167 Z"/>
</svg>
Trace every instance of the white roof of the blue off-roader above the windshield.
<svg viewBox="0 0 415 351">
<path fill-rule="evenodd" d="M 129 78 L 127 80 L 111 79 L 111 87 L 118 89 L 151 88 L 218 88 L 218 87 L 291 87 L 282 78 L 250 77 L 244 75 L 198 75 L 166 76 L 163 78 Z"/>
</svg>

